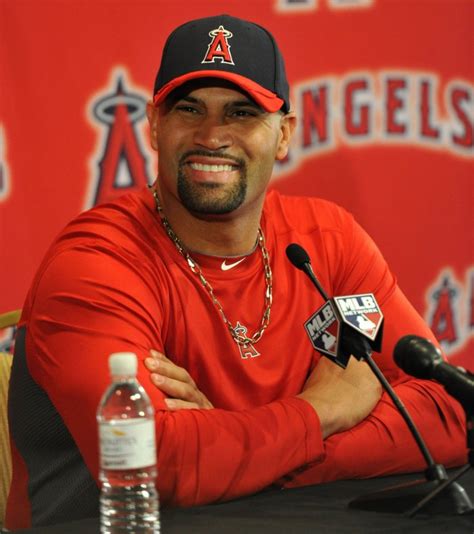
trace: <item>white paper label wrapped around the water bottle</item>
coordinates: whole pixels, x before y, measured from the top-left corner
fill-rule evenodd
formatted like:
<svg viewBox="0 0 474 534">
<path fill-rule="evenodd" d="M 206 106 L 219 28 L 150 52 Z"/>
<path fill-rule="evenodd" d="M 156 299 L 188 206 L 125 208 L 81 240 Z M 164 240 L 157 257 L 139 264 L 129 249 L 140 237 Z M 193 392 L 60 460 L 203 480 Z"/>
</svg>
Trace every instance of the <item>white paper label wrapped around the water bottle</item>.
<svg viewBox="0 0 474 534">
<path fill-rule="evenodd" d="M 156 464 L 153 420 L 102 421 L 99 439 L 102 469 L 138 469 Z"/>
</svg>

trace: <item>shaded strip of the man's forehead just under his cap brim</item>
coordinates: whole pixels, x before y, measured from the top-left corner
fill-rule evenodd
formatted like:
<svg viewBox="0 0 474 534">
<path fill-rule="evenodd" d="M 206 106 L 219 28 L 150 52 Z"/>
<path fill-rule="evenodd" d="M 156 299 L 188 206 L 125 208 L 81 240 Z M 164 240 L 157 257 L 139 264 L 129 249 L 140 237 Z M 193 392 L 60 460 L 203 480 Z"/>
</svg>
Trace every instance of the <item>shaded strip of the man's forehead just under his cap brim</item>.
<svg viewBox="0 0 474 534">
<path fill-rule="evenodd" d="M 248 93 L 238 85 L 219 78 L 199 78 L 190 80 L 172 91 L 166 98 L 167 104 L 173 104 L 182 98 L 191 97 L 196 99 L 221 98 L 222 100 L 238 100 L 249 102 L 258 106 Z M 259 106 L 258 106 L 259 107 Z"/>
</svg>

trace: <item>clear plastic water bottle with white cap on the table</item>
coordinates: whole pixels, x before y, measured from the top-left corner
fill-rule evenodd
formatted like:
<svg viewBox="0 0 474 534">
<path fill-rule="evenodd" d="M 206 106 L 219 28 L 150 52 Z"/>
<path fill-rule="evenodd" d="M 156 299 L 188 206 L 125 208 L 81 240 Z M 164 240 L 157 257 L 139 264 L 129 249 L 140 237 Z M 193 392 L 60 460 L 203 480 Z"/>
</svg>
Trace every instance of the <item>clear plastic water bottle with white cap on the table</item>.
<svg viewBox="0 0 474 534">
<path fill-rule="evenodd" d="M 100 532 L 160 532 L 154 409 L 136 379 L 135 354 L 111 354 L 109 367 L 112 384 L 97 410 Z"/>
</svg>

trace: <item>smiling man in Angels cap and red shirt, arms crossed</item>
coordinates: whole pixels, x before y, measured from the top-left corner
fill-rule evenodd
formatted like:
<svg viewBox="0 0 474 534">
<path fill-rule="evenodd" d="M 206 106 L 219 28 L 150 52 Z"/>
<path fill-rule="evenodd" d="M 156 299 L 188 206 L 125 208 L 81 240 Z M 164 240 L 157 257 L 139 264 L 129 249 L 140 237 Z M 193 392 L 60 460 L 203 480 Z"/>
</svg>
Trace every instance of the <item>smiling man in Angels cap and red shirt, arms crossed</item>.
<svg viewBox="0 0 474 534">
<path fill-rule="evenodd" d="M 303 324 L 322 299 L 286 259 L 292 242 L 330 294 L 375 293 L 376 361 L 436 460 L 464 462 L 460 406 L 392 361 L 404 334 L 433 336 L 376 246 L 342 208 L 266 192 L 296 122 L 273 37 L 227 15 L 177 28 L 148 118 L 157 181 L 71 222 L 25 303 L 7 524 L 98 513 L 95 411 L 115 351 L 142 360 L 164 505 L 423 469 L 367 365 L 313 350 Z"/>
</svg>

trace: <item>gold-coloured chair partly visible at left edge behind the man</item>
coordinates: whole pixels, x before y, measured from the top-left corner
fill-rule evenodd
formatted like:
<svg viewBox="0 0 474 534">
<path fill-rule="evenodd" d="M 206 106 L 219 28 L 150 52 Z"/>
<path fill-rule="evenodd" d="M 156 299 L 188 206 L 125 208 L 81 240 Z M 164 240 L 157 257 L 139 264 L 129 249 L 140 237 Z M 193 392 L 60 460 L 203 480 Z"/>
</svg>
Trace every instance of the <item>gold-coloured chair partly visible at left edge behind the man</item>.
<svg viewBox="0 0 474 534">
<path fill-rule="evenodd" d="M 0 329 L 15 326 L 21 310 L 0 314 Z M 5 507 L 12 473 L 8 433 L 7 396 L 13 355 L 0 352 L 0 528 L 5 519 Z"/>
</svg>

